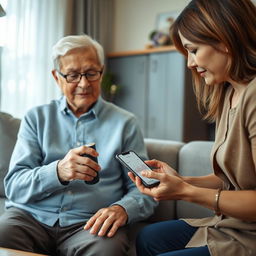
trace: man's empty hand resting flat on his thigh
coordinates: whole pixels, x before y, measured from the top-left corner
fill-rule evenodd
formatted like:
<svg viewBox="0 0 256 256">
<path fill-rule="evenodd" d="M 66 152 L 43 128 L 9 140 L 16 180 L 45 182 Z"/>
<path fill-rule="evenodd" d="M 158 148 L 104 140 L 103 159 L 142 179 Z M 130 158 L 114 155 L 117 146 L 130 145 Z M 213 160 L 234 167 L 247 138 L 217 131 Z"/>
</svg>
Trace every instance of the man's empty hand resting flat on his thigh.
<svg viewBox="0 0 256 256">
<path fill-rule="evenodd" d="M 128 215 L 120 205 L 113 205 L 97 211 L 84 226 L 85 230 L 90 230 L 91 234 L 98 236 L 112 237 L 117 229 L 125 225 Z"/>
</svg>

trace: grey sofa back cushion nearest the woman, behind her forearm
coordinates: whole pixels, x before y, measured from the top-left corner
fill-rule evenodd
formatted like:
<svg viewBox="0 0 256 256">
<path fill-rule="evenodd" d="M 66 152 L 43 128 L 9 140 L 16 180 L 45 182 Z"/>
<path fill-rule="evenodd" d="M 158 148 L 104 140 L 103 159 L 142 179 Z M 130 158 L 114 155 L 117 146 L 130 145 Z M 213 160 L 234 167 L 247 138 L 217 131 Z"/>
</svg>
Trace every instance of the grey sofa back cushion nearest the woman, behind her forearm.
<svg viewBox="0 0 256 256">
<path fill-rule="evenodd" d="M 213 142 L 193 141 L 181 148 L 179 173 L 182 176 L 203 176 L 212 173 L 210 161 Z M 212 216 L 213 211 L 190 202 L 177 201 L 177 218 L 203 218 Z"/>
</svg>

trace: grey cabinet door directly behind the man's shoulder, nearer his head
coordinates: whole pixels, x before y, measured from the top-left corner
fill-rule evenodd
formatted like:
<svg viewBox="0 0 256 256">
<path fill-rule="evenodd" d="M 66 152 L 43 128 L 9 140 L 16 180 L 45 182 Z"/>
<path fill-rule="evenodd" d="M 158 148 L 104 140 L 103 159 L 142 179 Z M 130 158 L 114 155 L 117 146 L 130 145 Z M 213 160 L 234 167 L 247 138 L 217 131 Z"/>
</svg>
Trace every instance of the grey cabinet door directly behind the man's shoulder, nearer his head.
<svg viewBox="0 0 256 256">
<path fill-rule="evenodd" d="M 146 55 L 110 58 L 108 70 L 114 74 L 121 89 L 115 103 L 134 113 L 146 132 L 146 98 L 147 98 L 147 58 Z"/>
</svg>

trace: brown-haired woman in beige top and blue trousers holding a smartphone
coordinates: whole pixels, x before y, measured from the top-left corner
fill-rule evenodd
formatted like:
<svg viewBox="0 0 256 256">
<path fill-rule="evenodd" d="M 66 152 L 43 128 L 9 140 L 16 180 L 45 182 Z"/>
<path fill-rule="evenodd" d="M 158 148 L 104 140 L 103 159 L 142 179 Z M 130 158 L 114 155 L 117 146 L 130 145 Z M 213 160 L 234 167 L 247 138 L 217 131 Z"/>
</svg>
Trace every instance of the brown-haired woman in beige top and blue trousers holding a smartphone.
<svg viewBox="0 0 256 256">
<path fill-rule="evenodd" d="M 187 57 L 205 118 L 216 122 L 214 173 L 181 177 L 151 160 L 144 172 L 160 185 L 139 190 L 155 200 L 185 200 L 214 217 L 152 224 L 137 238 L 138 255 L 256 255 L 256 8 L 250 0 L 193 0 L 171 29 Z"/>
</svg>

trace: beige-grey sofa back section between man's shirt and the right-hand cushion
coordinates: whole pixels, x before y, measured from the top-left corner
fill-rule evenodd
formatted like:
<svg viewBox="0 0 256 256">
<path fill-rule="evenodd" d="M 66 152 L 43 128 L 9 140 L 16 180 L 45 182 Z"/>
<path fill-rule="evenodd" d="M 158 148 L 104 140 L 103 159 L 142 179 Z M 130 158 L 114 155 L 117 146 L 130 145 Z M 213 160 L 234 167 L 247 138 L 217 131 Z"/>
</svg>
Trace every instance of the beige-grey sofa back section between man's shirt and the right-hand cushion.
<svg viewBox="0 0 256 256">
<path fill-rule="evenodd" d="M 157 159 L 168 163 L 175 170 L 178 169 L 178 157 L 182 142 L 160 139 L 144 139 L 149 159 Z M 149 221 L 157 222 L 174 219 L 176 217 L 175 202 L 161 201 Z"/>
</svg>

